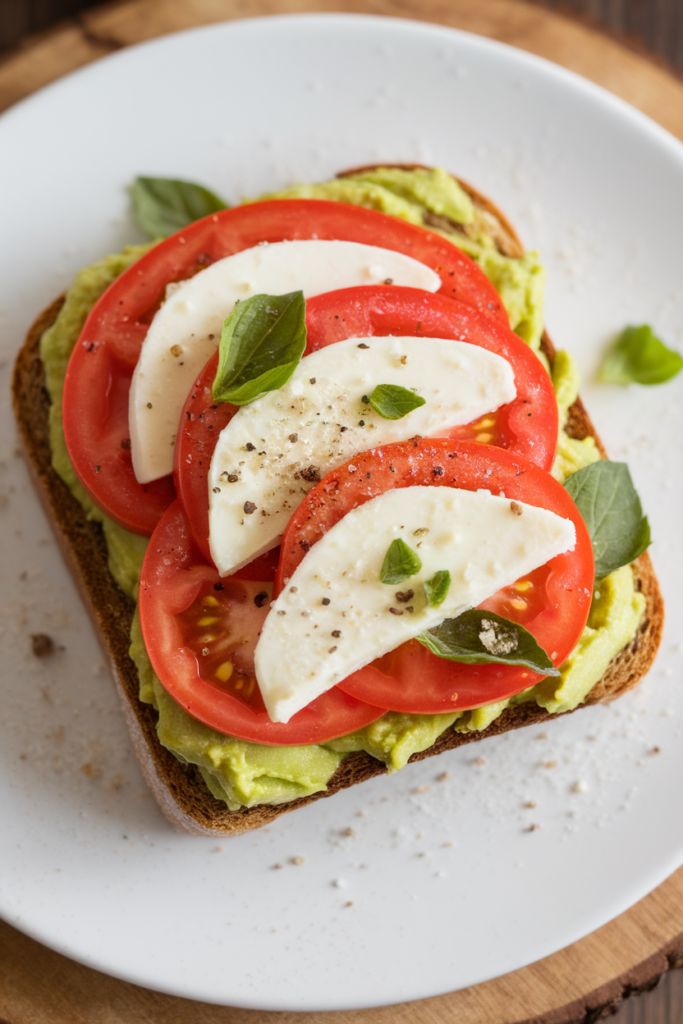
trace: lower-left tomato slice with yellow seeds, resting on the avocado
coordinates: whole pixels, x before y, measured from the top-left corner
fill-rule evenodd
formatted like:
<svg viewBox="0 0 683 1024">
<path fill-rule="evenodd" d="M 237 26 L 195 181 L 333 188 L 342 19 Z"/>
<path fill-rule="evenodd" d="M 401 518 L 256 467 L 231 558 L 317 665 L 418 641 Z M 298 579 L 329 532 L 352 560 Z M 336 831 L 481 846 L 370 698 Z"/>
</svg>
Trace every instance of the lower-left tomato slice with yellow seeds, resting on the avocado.
<svg viewBox="0 0 683 1024">
<path fill-rule="evenodd" d="M 220 580 L 193 543 L 179 502 L 155 529 L 140 578 L 140 623 L 155 672 L 205 725 L 255 743 L 324 743 L 384 714 L 334 687 L 286 725 L 271 722 L 254 676 L 254 648 L 271 585 Z"/>
</svg>

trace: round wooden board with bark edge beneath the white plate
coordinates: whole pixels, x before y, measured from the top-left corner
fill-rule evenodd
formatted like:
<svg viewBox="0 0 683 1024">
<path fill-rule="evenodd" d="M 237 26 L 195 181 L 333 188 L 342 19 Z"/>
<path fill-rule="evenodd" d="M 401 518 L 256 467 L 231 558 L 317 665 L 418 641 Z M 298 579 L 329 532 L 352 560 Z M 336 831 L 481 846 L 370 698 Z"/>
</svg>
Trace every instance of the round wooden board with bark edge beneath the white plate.
<svg viewBox="0 0 683 1024">
<path fill-rule="evenodd" d="M 627 99 L 683 139 L 683 82 L 617 40 L 521 0 L 125 0 L 0 60 L 0 110 L 122 46 L 255 14 L 346 10 L 415 17 L 545 56 Z M 683 966 L 683 868 L 630 911 L 520 971 L 373 1011 L 271 1014 L 160 995 L 98 974 L 0 923 L 0 1024 L 574 1024 L 595 1021 Z"/>
</svg>

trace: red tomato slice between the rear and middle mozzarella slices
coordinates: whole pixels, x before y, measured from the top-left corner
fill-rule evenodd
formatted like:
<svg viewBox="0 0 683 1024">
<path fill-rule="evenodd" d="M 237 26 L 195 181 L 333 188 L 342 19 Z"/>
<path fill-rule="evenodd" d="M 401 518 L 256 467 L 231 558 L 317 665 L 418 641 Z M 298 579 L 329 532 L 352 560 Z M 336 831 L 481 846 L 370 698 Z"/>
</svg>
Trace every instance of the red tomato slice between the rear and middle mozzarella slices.
<svg viewBox="0 0 683 1024">
<path fill-rule="evenodd" d="M 442 436 L 485 441 L 525 456 L 542 469 L 551 468 L 558 431 L 552 382 L 528 345 L 500 321 L 441 295 L 412 288 L 365 286 L 309 299 L 306 330 L 306 355 L 345 338 L 416 334 L 424 335 L 425 346 L 430 337 L 454 338 L 502 355 L 515 376 L 515 400 L 477 423 L 453 428 Z M 208 562 L 212 560 L 208 471 L 218 435 L 238 411 L 236 406 L 213 401 L 211 387 L 217 365 L 216 352 L 185 402 L 175 449 L 176 490 L 195 541 Z"/>
</svg>

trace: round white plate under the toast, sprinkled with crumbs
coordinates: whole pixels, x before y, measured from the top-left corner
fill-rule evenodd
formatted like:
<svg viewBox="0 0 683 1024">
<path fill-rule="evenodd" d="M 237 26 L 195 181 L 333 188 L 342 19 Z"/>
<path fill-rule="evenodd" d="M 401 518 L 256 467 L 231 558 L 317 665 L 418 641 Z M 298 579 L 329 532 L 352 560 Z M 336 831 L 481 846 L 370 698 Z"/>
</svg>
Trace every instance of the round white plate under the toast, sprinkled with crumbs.
<svg viewBox="0 0 683 1024">
<path fill-rule="evenodd" d="M 626 324 L 683 339 L 683 147 L 645 118 L 526 53 L 409 22 L 246 20 L 124 50 L 0 121 L 4 379 L 72 274 L 136 238 L 135 174 L 236 202 L 383 160 L 458 172 L 542 251 L 551 333 L 578 355 L 588 407 L 650 514 L 668 634 L 649 678 L 612 707 L 409 767 L 261 833 L 176 835 L 146 796 L 15 458 L 3 386 L 0 911 L 183 996 L 333 1010 L 445 992 L 573 942 L 683 862 L 683 379 L 594 383 Z M 38 662 L 38 632 L 65 650 Z"/>
</svg>

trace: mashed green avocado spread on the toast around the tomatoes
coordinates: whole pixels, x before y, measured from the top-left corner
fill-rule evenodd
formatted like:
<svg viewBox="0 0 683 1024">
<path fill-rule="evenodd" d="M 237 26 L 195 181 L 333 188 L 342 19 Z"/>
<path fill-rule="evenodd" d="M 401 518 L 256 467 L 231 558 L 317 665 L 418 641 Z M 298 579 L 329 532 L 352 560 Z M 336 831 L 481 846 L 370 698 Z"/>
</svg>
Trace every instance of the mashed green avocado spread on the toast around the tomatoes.
<svg viewBox="0 0 683 1024">
<path fill-rule="evenodd" d="M 470 197 L 444 171 L 380 169 L 321 185 L 296 186 L 276 196 L 337 200 L 437 230 L 479 263 L 500 292 L 513 329 L 538 349 L 543 333 L 543 268 L 538 256 L 502 255 L 486 230 L 487 215 L 475 209 Z M 105 516 L 79 482 L 65 444 L 61 392 L 69 356 L 89 309 L 109 285 L 150 248 L 150 245 L 131 246 L 83 270 L 70 289 L 57 319 L 41 341 L 41 358 L 52 402 L 53 467 L 85 508 L 88 518 L 101 523 L 112 574 L 133 599 L 137 596 L 147 541 Z M 593 438 L 575 440 L 562 429 L 579 390 L 579 375 L 566 352 L 557 353 L 552 378 L 560 412 L 553 475 L 563 482 L 578 469 L 599 459 L 600 454 Z M 617 569 L 596 590 L 588 625 L 562 666 L 559 678 L 548 677 L 510 700 L 474 711 L 447 715 L 388 712 L 365 729 L 324 745 L 251 743 L 225 736 L 190 718 L 155 675 L 137 613 L 131 631 L 130 655 L 138 670 L 140 699 L 154 705 L 159 712 L 160 741 L 180 761 L 198 765 L 214 797 L 224 801 L 230 810 L 237 810 L 242 806 L 286 803 L 325 790 L 343 756 L 353 751 L 367 751 L 383 761 L 391 772 L 402 768 L 413 754 L 431 746 L 446 729 L 481 731 L 509 706 L 535 700 L 551 714 L 571 711 L 635 635 L 644 606 L 644 597 L 635 591 L 630 566 Z"/>
</svg>

